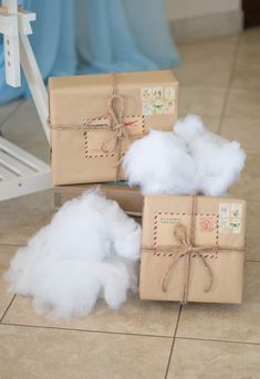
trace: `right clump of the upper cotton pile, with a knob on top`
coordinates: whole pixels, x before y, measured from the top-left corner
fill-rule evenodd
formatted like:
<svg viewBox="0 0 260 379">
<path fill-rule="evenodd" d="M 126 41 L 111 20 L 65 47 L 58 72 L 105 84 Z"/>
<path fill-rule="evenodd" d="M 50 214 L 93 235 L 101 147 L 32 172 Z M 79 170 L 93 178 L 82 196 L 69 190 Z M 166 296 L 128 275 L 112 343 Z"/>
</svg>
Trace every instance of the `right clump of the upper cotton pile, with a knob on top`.
<svg viewBox="0 0 260 379">
<path fill-rule="evenodd" d="M 195 161 L 198 191 L 206 196 L 227 194 L 245 165 L 246 154 L 240 144 L 209 131 L 196 115 L 177 122 L 174 130 L 186 143 Z"/>
</svg>

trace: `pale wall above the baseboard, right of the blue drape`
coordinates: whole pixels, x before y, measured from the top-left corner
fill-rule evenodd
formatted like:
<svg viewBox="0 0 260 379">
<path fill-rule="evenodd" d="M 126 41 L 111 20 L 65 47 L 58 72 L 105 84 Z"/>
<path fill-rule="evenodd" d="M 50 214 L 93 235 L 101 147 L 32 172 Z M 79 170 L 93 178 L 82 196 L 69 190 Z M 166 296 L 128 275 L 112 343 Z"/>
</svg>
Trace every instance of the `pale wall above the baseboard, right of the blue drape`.
<svg viewBox="0 0 260 379">
<path fill-rule="evenodd" d="M 181 20 L 241 9 L 240 0 L 165 0 L 169 20 Z"/>
</svg>

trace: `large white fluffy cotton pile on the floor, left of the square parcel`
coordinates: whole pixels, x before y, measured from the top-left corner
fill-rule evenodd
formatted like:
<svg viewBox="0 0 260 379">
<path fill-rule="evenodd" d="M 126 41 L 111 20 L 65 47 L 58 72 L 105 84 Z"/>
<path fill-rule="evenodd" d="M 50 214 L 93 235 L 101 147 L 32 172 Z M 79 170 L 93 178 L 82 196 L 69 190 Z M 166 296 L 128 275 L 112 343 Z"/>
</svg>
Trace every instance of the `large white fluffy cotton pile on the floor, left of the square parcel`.
<svg viewBox="0 0 260 379">
<path fill-rule="evenodd" d="M 97 298 L 118 308 L 136 289 L 139 246 L 141 227 L 115 201 L 85 192 L 19 249 L 6 278 L 53 318 L 85 316 Z"/>
</svg>

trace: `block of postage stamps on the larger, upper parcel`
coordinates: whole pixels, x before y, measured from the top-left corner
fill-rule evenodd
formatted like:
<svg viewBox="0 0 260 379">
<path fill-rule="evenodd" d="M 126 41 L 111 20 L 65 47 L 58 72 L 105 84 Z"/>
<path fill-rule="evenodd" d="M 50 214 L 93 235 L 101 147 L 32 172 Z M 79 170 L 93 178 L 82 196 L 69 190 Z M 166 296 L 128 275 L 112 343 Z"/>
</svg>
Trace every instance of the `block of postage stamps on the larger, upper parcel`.
<svg viewBox="0 0 260 379">
<path fill-rule="evenodd" d="M 144 116 L 170 115 L 176 112 L 175 87 L 142 87 L 142 112 Z"/>
</svg>

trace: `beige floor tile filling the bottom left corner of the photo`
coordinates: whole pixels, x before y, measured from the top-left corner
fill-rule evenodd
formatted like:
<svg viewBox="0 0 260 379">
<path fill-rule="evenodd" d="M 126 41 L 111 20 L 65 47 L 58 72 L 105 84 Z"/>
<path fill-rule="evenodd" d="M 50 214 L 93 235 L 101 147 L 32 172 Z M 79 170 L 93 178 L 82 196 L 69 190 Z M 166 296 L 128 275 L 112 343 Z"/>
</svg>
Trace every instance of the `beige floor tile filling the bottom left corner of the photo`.
<svg viewBox="0 0 260 379">
<path fill-rule="evenodd" d="M 163 379 L 170 338 L 0 326 L 4 379 Z"/>
</svg>

